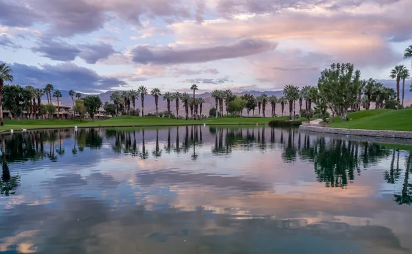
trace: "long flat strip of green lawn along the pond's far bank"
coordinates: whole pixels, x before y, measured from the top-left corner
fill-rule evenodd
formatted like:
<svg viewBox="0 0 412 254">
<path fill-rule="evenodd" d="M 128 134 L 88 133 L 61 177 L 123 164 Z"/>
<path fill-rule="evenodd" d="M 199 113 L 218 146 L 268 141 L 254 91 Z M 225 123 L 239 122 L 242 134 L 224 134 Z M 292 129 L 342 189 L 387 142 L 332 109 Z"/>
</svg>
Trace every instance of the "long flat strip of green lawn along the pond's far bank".
<svg viewBox="0 0 412 254">
<path fill-rule="evenodd" d="M 43 119 L 30 119 L 30 120 L 5 120 L 4 126 L 0 126 L 0 130 L 21 130 L 21 128 L 31 129 L 31 128 L 72 128 L 74 126 L 78 127 L 112 127 L 112 126 L 173 126 L 173 125 L 187 125 L 187 124 L 266 124 L 273 119 L 287 119 L 287 117 L 276 117 L 276 118 L 236 118 L 236 117 L 220 117 L 207 118 L 204 120 L 179 120 L 179 119 L 169 119 L 161 117 L 133 117 L 133 116 L 122 116 L 113 117 L 106 120 L 85 120 L 80 122 L 80 120 L 43 120 Z M 301 118 L 305 121 L 305 118 Z"/>
</svg>

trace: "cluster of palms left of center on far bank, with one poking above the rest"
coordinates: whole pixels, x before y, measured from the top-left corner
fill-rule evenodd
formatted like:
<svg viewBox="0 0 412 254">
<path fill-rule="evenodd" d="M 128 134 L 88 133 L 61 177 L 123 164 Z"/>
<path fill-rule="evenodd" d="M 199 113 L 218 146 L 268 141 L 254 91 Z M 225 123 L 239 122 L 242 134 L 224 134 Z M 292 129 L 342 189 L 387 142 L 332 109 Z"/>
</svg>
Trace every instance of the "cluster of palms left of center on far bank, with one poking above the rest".
<svg viewBox="0 0 412 254">
<path fill-rule="evenodd" d="M 176 102 L 176 117 L 179 117 L 179 101 L 183 103 L 183 107 L 185 108 L 185 118 L 189 118 L 189 110 L 191 111 L 192 119 L 198 119 L 202 115 L 202 108 L 203 104 L 205 103 L 205 99 L 198 97 L 196 98 L 196 90 L 198 90 L 198 86 L 196 84 L 192 84 L 190 87 L 193 90 L 193 97 L 189 95 L 189 93 L 170 93 L 166 92 L 163 94 L 163 101 L 166 101 L 168 104 L 168 113 L 172 113 L 170 109 L 171 102 Z M 116 115 L 137 115 L 136 114 L 136 100 L 141 100 L 141 116 L 144 116 L 144 98 L 145 95 L 148 95 L 149 91 L 145 86 L 139 86 L 137 90 L 130 90 L 130 91 L 115 91 L 110 96 L 111 102 L 115 104 L 116 108 Z M 161 91 L 158 88 L 153 88 L 150 90 L 150 95 L 155 98 L 155 108 L 156 108 L 156 115 L 159 115 L 159 98 L 162 97 Z M 130 104 L 133 105 L 133 111 L 131 111 Z M 170 116 L 170 115 L 169 115 Z"/>
</svg>

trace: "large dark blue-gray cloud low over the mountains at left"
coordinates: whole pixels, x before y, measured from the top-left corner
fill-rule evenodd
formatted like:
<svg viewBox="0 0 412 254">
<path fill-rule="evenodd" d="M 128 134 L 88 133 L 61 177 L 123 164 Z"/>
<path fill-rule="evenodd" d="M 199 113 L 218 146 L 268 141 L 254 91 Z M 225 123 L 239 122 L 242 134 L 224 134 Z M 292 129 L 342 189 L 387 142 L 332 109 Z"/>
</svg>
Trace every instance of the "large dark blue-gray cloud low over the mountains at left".
<svg viewBox="0 0 412 254">
<path fill-rule="evenodd" d="M 41 68 L 14 63 L 10 65 L 10 68 L 13 70 L 14 83 L 22 85 L 44 86 L 45 83 L 52 83 L 56 89 L 95 93 L 127 84 L 123 80 L 100 76 L 91 69 L 69 62 L 58 65 L 41 65 Z"/>
</svg>

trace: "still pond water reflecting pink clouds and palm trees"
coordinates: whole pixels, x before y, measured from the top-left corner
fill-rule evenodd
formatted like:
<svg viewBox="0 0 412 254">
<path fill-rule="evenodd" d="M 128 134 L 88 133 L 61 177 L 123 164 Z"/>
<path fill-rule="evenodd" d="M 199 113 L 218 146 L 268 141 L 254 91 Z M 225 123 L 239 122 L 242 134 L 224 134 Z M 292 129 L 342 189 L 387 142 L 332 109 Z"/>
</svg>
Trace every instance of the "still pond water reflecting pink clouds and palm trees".
<svg viewBox="0 0 412 254">
<path fill-rule="evenodd" d="M 250 127 L 1 139 L 1 253 L 412 253 L 409 151 Z"/>
</svg>

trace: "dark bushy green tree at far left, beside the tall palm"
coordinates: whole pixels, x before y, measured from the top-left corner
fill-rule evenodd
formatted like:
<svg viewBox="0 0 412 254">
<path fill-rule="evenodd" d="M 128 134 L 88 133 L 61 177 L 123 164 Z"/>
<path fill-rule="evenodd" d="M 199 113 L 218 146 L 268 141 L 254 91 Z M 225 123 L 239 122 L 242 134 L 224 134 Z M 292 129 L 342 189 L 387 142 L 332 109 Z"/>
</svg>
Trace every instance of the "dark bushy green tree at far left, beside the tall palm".
<svg viewBox="0 0 412 254">
<path fill-rule="evenodd" d="M 3 104 L 20 122 L 21 113 L 27 108 L 31 100 L 30 93 L 18 84 L 3 86 Z"/>
</svg>

